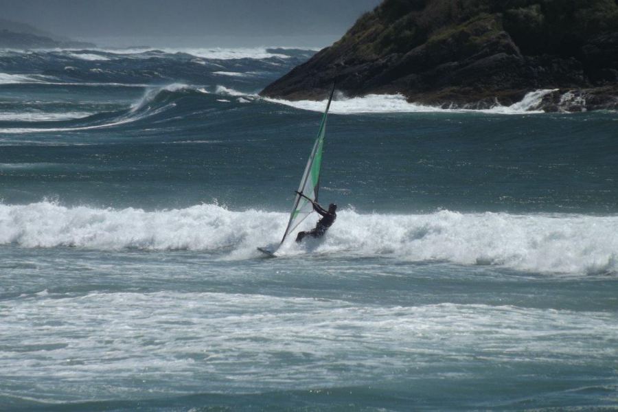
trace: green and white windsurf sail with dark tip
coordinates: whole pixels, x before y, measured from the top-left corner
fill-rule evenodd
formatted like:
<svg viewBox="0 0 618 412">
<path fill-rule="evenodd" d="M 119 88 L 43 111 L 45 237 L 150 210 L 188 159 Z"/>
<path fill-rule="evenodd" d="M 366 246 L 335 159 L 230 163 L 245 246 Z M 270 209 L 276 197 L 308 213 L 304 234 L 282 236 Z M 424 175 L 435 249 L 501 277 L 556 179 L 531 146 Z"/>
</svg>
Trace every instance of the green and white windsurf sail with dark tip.
<svg viewBox="0 0 618 412">
<path fill-rule="evenodd" d="M 305 172 L 298 187 L 299 193 L 304 194 L 304 196 L 307 196 L 307 198 L 310 198 L 315 202 L 318 201 L 318 194 L 320 190 L 320 169 L 322 166 L 322 150 L 324 147 L 324 136 L 326 133 L 326 117 L 328 117 L 328 109 L 330 108 L 330 102 L 332 102 L 333 93 L 334 84 L 332 85 L 332 90 L 330 91 L 330 97 L 328 98 L 328 104 L 326 104 L 326 111 L 322 117 L 322 123 L 320 124 L 317 139 L 315 139 L 313 149 L 311 150 L 311 155 L 309 156 L 309 160 L 305 166 Z M 299 194 L 296 195 L 294 199 L 294 207 L 292 208 L 292 213 L 290 214 L 290 221 L 288 222 L 288 227 L 286 228 L 286 233 L 284 233 L 281 243 L 283 243 L 288 235 L 293 232 L 313 211 L 313 205 L 307 200 L 307 198 L 304 198 Z"/>
</svg>

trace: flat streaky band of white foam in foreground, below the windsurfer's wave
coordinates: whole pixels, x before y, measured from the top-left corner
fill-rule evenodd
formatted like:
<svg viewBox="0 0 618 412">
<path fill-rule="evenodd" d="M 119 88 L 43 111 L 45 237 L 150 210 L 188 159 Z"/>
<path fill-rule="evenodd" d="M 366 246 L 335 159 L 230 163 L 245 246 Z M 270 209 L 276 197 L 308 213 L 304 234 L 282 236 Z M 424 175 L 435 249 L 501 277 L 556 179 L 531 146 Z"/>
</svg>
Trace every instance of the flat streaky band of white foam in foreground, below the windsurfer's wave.
<svg viewBox="0 0 618 412">
<path fill-rule="evenodd" d="M 615 351 L 599 340 L 618 337 L 613 312 L 380 306 L 249 293 L 42 293 L 0 301 L 0 310 L 11 314 L 3 318 L 0 367 L 6 376 L 42 377 L 39 399 L 58 393 L 59 382 L 63 399 L 69 393 L 117 400 L 363 385 L 376 380 L 376 371 L 392 376 L 411 365 L 435 379 L 444 376 L 438 359 L 458 370 L 488 361 L 511 369 L 547 357 L 549 365 L 611 362 Z M 113 379 L 84 387 L 102 377 Z"/>
</svg>

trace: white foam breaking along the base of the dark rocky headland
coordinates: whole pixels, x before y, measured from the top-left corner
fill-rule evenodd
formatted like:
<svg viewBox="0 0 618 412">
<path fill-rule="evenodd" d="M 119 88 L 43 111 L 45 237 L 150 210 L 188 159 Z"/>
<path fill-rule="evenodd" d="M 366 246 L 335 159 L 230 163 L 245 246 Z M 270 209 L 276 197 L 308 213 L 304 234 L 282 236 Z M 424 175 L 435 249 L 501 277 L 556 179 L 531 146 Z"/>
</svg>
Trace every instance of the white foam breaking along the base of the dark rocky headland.
<svg viewBox="0 0 618 412">
<path fill-rule="evenodd" d="M 403 95 L 376 95 L 370 94 L 358 98 L 346 98 L 339 93 L 335 103 L 330 107 L 330 112 L 339 115 L 354 115 L 363 113 L 494 113 L 501 115 L 521 115 L 543 113 L 535 110 L 542 98 L 553 90 L 544 89 L 527 93 L 521 102 L 511 106 L 500 106 L 496 104 L 493 108 L 485 110 L 473 110 L 466 108 L 440 108 L 424 104 L 411 103 Z M 323 112 L 327 100 L 282 100 L 265 98 L 267 102 L 284 104 L 300 108 L 302 110 Z"/>
</svg>

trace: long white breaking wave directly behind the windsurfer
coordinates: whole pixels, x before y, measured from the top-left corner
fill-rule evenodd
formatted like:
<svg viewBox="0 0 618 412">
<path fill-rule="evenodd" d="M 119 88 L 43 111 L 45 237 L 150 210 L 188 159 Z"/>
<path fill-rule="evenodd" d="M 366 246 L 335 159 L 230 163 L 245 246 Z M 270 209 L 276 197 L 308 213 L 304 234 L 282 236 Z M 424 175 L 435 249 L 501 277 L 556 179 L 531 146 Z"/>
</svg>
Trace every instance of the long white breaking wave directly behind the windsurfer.
<svg viewBox="0 0 618 412">
<path fill-rule="evenodd" d="M 277 244 L 288 214 L 218 205 L 186 209 L 95 209 L 47 201 L 0 205 L 0 244 L 121 250 L 194 250 L 225 259 L 257 256 L 256 246 Z M 306 221 L 310 226 L 314 219 Z M 618 271 L 618 216 L 358 214 L 344 210 L 319 241 L 284 245 L 282 255 L 382 255 L 409 262 L 439 260 L 498 265 L 539 273 L 604 274 Z"/>
</svg>

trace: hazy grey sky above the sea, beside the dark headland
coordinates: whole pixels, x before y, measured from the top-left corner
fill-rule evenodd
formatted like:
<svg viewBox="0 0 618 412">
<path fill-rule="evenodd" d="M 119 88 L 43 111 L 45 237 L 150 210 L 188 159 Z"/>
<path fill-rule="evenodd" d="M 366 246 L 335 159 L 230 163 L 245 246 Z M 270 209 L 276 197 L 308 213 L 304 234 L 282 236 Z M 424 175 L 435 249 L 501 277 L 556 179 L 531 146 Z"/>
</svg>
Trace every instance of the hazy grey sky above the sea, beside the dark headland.
<svg viewBox="0 0 618 412">
<path fill-rule="evenodd" d="M 0 0 L 1 17 L 72 38 L 339 38 L 380 0 Z"/>
</svg>

